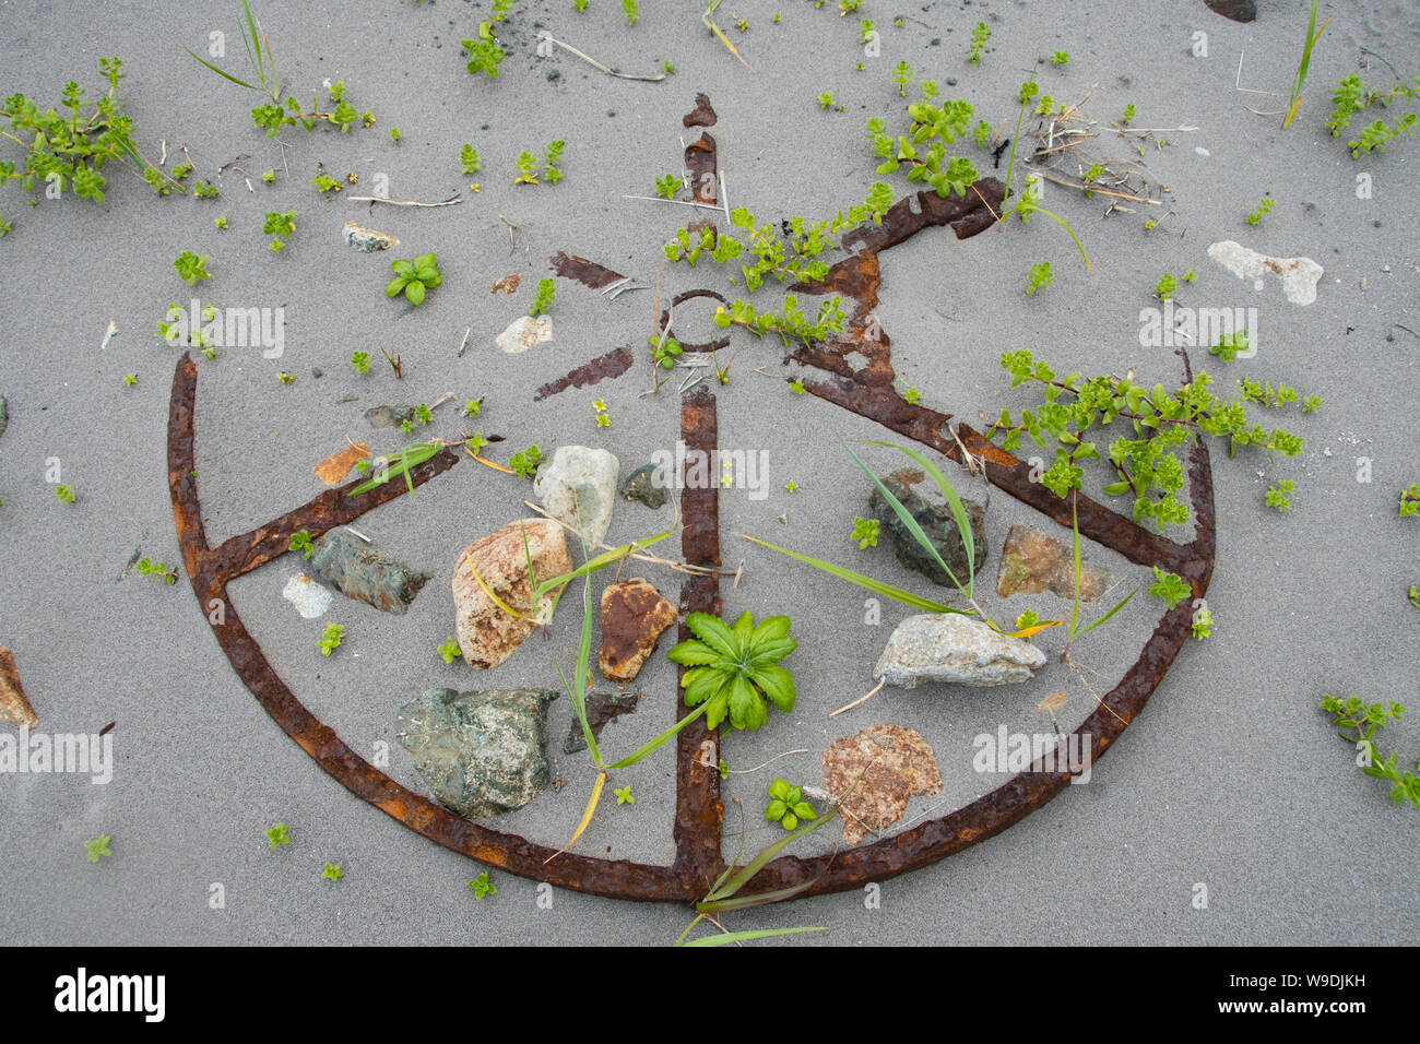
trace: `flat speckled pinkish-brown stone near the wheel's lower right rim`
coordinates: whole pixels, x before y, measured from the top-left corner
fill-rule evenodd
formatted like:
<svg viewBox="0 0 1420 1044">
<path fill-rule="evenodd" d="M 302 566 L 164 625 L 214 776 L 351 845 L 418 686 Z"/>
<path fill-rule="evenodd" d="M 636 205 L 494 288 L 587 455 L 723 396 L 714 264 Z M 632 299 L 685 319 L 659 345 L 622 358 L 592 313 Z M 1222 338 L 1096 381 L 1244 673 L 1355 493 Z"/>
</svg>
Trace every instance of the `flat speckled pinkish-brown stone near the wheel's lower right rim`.
<svg viewBox="0 0 1420 1044">
<path fill-rule="evenodd" d="M 920 733 L 880 724 L 824 750 L 824 788 L 839 798 L 843 842 L 856 845 L 902 818 L 913 794 L 941 793 L 941 774 Z"/>
</svg>

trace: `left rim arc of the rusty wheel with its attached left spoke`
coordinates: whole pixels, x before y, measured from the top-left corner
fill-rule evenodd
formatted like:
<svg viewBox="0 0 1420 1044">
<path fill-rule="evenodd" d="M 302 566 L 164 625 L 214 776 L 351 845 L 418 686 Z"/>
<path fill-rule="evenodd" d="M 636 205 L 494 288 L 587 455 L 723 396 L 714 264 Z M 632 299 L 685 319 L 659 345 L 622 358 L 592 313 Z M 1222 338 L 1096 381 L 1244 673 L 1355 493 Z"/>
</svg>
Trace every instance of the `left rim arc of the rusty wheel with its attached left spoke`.
<svg viewBox="0 0 1420 1044">
<path fill-rule="evenodd" d="M 368 801 L 430 841 L 488 866 L 532 881 L 545 881 L 557 888 L 592 892 L 612 899 L 684 902 L 704 895 L 703 888 L 689 886 L 670 866 L 646 866 L 628 859 L 592 859 L 574 852 L 559 855 L 545 845 L 532 844 L 513 834 L 500 834 L 454 815 L 447 808 L 416 794 L 371 766 L 351 750 L 334 730 L 307 710 L 273 670 L 261 646 L 241 624 L 241 616 L 227 597 L 227 581 L 244 571 L 240 567 L 251 568 L 250 558 L 246 554 L 236 554 L 233 548 L 248 553 L 251 548 L 261 547 L 263 537 L 260 534 L 271 530 L 275 523 L 234 537 L 222 545 L 222 548 L 230 545 L 226 553 L 222 548 L 210 550 L 207 547 L 195 469 L 193 409 L 196 398 L 197 368 L 190 355 L 183 355 L 173 374 L 168 413 L 168 484 L 173 500 L 178 545 L 192 580 L 193 592 L 197 595 L 199 609 L 206 615 L 217 643 L 227 655 L 227 662 L 287 736 L 295 740 L 321 768 L 355 797 Z M 444 452 L 413 469 L 410 477 L 416 484 L 422 484 L 457 462 L 459 457 Z M 329 524 L 339 524 L 329 521 L 332 514 L 354 509 L 354 514 L 341 520 L 352 521 L 364 511 L 403 491 L 402 483 L 386 483 L 359 497 L 351 497 L 349 504 L 342 504 L 331 500 L 332 496 L 339 494 L 338 490 L 331 490 L 288 513 L 284 518 L 300 521 L 312 533 L 324 531 Z M 213 605 L 213 601 L 217 604 Z M 714 780 L 719 780 L 714 770 L 709 771 Z M 719 837 L 719 821 L 714 827 L 716 837 Z"/>
</svg>

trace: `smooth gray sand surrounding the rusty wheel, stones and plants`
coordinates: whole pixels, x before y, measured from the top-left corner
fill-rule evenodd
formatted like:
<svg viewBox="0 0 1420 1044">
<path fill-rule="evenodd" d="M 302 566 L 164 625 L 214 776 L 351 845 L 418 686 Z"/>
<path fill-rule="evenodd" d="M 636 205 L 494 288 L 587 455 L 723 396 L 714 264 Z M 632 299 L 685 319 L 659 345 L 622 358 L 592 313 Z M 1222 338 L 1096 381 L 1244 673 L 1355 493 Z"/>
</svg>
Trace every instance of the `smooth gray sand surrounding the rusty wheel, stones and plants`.
<svg viewBox="0 0 1420 1044">
<path fill-rule="evenodd" d="M 1169 349 L 1139 347 L 1137 312 L 1150 304 L 1163 271 L 1181 276 L 1193 268 L 1197 283 L 1180 290 L 1181 304 L 1255 305 L 1261 317 L 1257 358 L 1223 364 L 1197 349 L 1196 369 L 1207 366 L 1224 392 L 1235 378 L 1255 376 L 1319 393 L 1325 406 L 1314 416 L 1299 418 L 1294 408 L 1285 419 L 1262 418 L 1305 436 L 1298 457 L 1272 462 L 1241 452 L 1228 460 L 1223 443 L 1214 445 L 1213 636 L 1190 641 L 1086 785 L 1068 788 L 991 841 L 883 883 L 878 909 L 868 909 L 863 895 L 845 893 L 753 910 L 728 923 L 826 925 L 831 932 L 794 942 L 838 945 L 1413 942 L 1420 935 L 1416 810 L 1392 807 L 1386 787 L 1352 766 L 1350 749 L 1316 702 L 1326 692 L 1414 702 L 1417 611 L 1404 592 L 1420 582 L 1420 523 L 1399 518 L 1396 503 L 1402 489 L 1420 482 L 1413 453 L 1420 443 L 1420 342 L 1393 324 L 1420 330 L 1413 233 L 1420 142 L 1402 139 L 1384 155 L 1352 162 L 1343 139 L 1322 126 L 1336 80 L 1358 61 L 1369 62 L 1362 71 L 1367 84 L 1390 82 L 1384 64 L 1360 48 L 1384 55 L 1403 75 L 1420 71 L 1414 6 L 1323 4 L 1332 23 L 1314 55 L 1301 115 L 1285 132 L 1277 116 L 1252 115 L 1244 105 L 1269 111 L 1287 104 L 1305 27 L 1296 4 L 1264 1 L 1258 21 L 1240 26 L 1201 0 L 1174 4 L 1162 16 L 1153 4 L 1118 0 L 926 0 L 900 9 L 869 0 L 861 16 L 876 20 L 882 54 L 863 58 L 863 72 L 855 71 L 862 57 L 856 17 L 839 18 L 832 0 L 822 10 L 807 0 L 721 4 L 720 21 L 748 68 L 703 31 L 701 7 L 646 0 L 640 23 L 628 30 L 612 0 L 592 0 L 581 16 L 571 0 L 524 0 L 504 31 L 503 77 L 491 82 L 464 72 L 459 44 L 476 33 L 486 3 L 261 4 L 257 13 L 283 82 L 295 97 L 308 98 L 322 80 L 344 78 L 352 104 L 378 118 L 373 128 L 344 136 L 328 128 L 285 131 L 284 156 L 250 124 L 247 111 L 258 97 L 182 51 L 222 30 L 226 65 L 240 74 L 237 4 L 0 7 L 4 95 L 23 91 L 41 105 L 57 104 L 70 78 L 94 94 L 97 58 L 119 55 L 129 74 L 122 97 L 145 152 L 156 156 L 159 139 L 166 139 L 170 165 L 186 142 L 199 173 L 209 178 L 239 153 L 248 153 L 241 166 L 253 173 L 277 172 L 273 186 L 257 182 L 248 193 L 241 175 L 229 169 L 217 179 L 217 200 L 156 200 L 122 170 L 112 170 L 102 205 L 45 200 L 41 190 L 40 206 L 31 209 L 18 186 L 0 189 L 0 213 L 14 222 L 0 243 L 7 261 L 0 392 L 10 408 L 0 437 L 0 643 L 14 649 L 41 729 L 97 732 L 116 722 L 116 766 L 106 785 L 82 776 L 0 777 L 0 885 L 6 909 L 26 912 L 4 919 L 0 939 L 674 940 L 689 922 L 684 909 L 564 891 L 542 909 L 535 882 L 501 872 L 493 874 L 497 895 L 476 902 L 464 882 L 477 865 L 348 794 L 267 717 L 223 658 L 186 577 L 160 588 L 129 571 L 115 584 L 135 545 L 178 561 L 165 449 L 178 351 L 153 338 L 153 330 L 168 303 L 193 294 L 176 278 L 172 259 L 189 249 L 212 256 L 213 278 L 197 288 L 203 301 L 285 305 L 281 359 L 263 359 L 254 348 L 197 359 L 197 457 L 214 543 L 315 496 L 321 487 L 311 464 L 346 437 L 365 439 L 376 452 L 398 447 L 398 432 L 365 423 L 369 406 L 432 402 L 449 391 L 460 401 L 487 396 L 471 426 L 507 436 L 496 459 L 530 443 L 548 452 L 558 443 L 601 445 L 621 457 L 625 476 L 655 449 L 673 446 L 679 430 L 674 385 L 638 398 L 648 381 L 642 352 L 652 293 L 608 303 L 559 280 L 552 342 L 504 355 L 493 338 L 528 305 L 535 281 L 550 274 L 545 259 L 557 250 L 655 281 L 660 243 L 692 212 L 621 196 L 650 195 L 656 176 L 680 169 L 680 138 L 692 134 L 680 116 L 697 91 L 707 92 L 719 112 L 711 132 L 731 205 L 750 207 L 761 220 L 819 217 L 862 200 L 876 178 L 863 119 L 905 124 L 889 81 L 896 61 L 943 81 L 946 97 L 967 98 L 993 125 L 1014 126 L 1015 88 L 1034 60 L 1066 48 L 1069 65 L 1039 68 L 1042 92 L 1074 102 L 1093 88 L 1086 111 L 1103 124 L 1132 102 L 1137 125 L 1197 128 L 1163 135 L 1173 143 L 1162 151 L 1150 145 L 1150 170 L 1169 185 L 1166 205 L 1100 220 L 1099 197 L 1047 186 L 1045 206 L 1075 227 L 1093 273 L 1045 217 L 966 243 L 936 230 L 885 256 L 879 314 L 893 339 L 902 386 L 912 384 L 924 403 L 977 423 L 978 410 L 991 418 L 1003 406 L 1018 410 L 1032 402 L 1025 389 L 1010 389 L 998 366 L 1000 354 L 1014 348 L 1031 348 L 1061 372 L 1133 366 L 1149 384 L 1176 382 L 1177 361 Z M 750 18 L 748 33 L 733 28 L 731 7 Z M 782 11 L 780 26 L 771 24 L 774 10 Z M 899 11 L 906 24 L 895 28 Z M 991 23 L 993 50 L 973 68 L 964 54 L 980 18 Z M 540 26 L 604 62 L 650 72 L 669 58 L 677 72 L 659 84 L 632 82 L 565 51 L 538 57 Z M 1190 50 L 1196 31 L 1207 33 L 1207 57 Z M 1235 89 L 1244 48 L 1242 87 L 1274 94 Z M 946 85 L 947 77 L 958 84 Z M 822 91 L 832 91 L 845 111 L 821 111 L 814 98 Z M 402 132 L 398 146 L 389 141 L 390 125 Z M 568 142 L 565 180 L 514 187 L 515 155 L 541 152 L 554 138 Z M 464 142 L 483 158 L 479 193 L 459 173 Z M 1118 148 L 1132 155 L 1123 142 Z M 1004 162 L 994 172 L 970 142 L 960 151 L 1004 178 Z M 18 156 L 16 148 L 0 152 Z M 359 185 L 320 199 L 308 183 L 317 161 L 334 176 L 356 172 Z M 1372 197 L 1358 199 L 1358 173 L 1370 175 Z M 436 200 L 462 189 L 464 202 L 371 214 L 342 197 L 368 195 L 362 190 L 379 175 L 388 175 L 389 195 L 398 199 Z M 902 178 L 889 180 L 905 192 Z M 1242 217 L 1264 193 L 1277 207 L 1250 227 Z M 264 246 L 261 217 L 293 207 L 297 232 L 278 257 Z M 227 216 L 230 230 L 213 227 L 217 214 Z M 500 214 L 520 226 L 511 251 Z M 1146 216 L 1159 217 L 1160 227 L 1146 233 Z M 341 241 L 346 219 L 395 234 L 402 244 L 386 254 L 355 253 Z M 1272 278 L 1254 293 L 1207 257 L 1207 246 L 1225 239 L 1315 259 L 1326 270 L 1316 301 L 1287 303 Z M 437 253 L 443 286 L 417 310 L 386 300 L 389 260 L 425 251 Z M 1047 259 L 1056 273 L 1054 286 L 1025 295 L 1028 266 Z M 524 276 L 517 295 L 490 297 L 493 281 L 511 271 Z M 707 263 L 694 271 L 667 266 L 663 280 L 666 293 L 727 288 Z M 771 297 L 761 291 L 757 303 Z M 696 312 L 694 322 L 707 314 Z M 101 351 L 109 320 L 121 332 Z M 470 327 L 469 348 L 456 359 Z M 531 403 L 541 384 L 619 344 L 638 354 L 630 374 Z M 403 355 L 402 384 L 381 359 L 381 347 Z M 1048 727 L 1035 705 L 1061 687 L 1071 692 L 1061 724 L 1074 727 L 1092 709 L 1092 697 L 1056 660 L 1061 641 L 1042 636 L 1051 663 L 1030 686 L 888 690 L 829 720 L 828 710 L 872 686 L 872 662 L 907 609 L 886 604 L 882 625 L 868 626 L 856 588 L 753 548 L 737 534 L 816 550 L 913 589 L 926 585 L 885 548 L 859 551 L 846 540 L 853 516 L 866 514 L 868 490 L 836 440 L 879 437 L 880 429 L 795 396 L 780 379 L 788 371 L 774 342 L 738 334 L 734 347 L 730 384 L 716 386 L 721 445 L 767 449 L 770 474 L 767 499 L 751 500 L 744 490 L 721 496 L 724 557 L 731 564 L 746 560 L 744 582 L 737 591 L 726 587 L 726 615 L 751 609 L 755 616 L 792 616 L 799 648 L 785 666 L 795 672 L 799 703 L 792 720 L 771 709 L 764 730 L 730 737 L 724 751 L 731 767 L 748 768 L 785 750 L 808 750 L 730 777 L 726 795 L 741 800 L 750 820 L 747 844 L 758 848 L 775 835 L 777 828 L 758 820 L 774 776 L 816 783 L 824 746 L 880 722 L 919 729 L 941 767 L 943 794 L 914 798 L 907 818 L 946 814 L 993 785 L 970 770 L 971 736 L 995 732 L 1003 722 L 1012 730 Z M 349 368 L 352 349 L 373 357 L 368 376 Z M 312 366 L 324 378 L 314 378 Z M 278 371 L 294 374 L 295 384 L 278 384 Z M 125 388 L 125 374 L 136 374 L 138 385 Z M 358 401 L 337 403 L 349 395 Z M 595 426 L 596 398 L 609 403 L 611 428 Z M 453 409 L 442 408 L 430 430 L 456 436 Z M 897 466 L 886 450 L 876 453 L 875 466 Z M 55 500 L 44 477 L 50 457 L 60 459 L 62 482 L 78 494 L 75 504 Z M 1369 484 L 1356 480 L 1358 457 L 1372 462 Z M 1296 491 L 1292 509 L 1278 516 L 1262 497 L 1269 482 L 1282 479 L 1295 480 Z M 788 482 L 801 489 L 787 491 Z M 457 663 L 446 668 L 435 651 L 453 632 L 447 578 L 454 555 L 518 517 L 524 496 L 531 496 L 530 486 L 464 460 L 416 503 L 400 499 L 358 524 L 386 551 L 433 574 L 408 616 L 337 597 L 324 619 L 300 619 L 280 595 L 298 568 L 295 555 L 233 585 L 248 629 L 307 706 L 366 757 L 378 740 L 389 743 L 389 773 L 416 790 L 423 787 L 393 741 L 399 706 L 430 686 L 555 687 L 551 656 L 561 655 L 564 665 L 571 659 L 577 619 L 567 607 L 551 642 L 534 638 L 487 678 L 471 678 Z M 788 523 L 780 524 L 785 513 Z M 666 520 L 669 509 L 621 504 L 611 541 L 645 537 Z M 1012 521 L 1032 517 L 995 491 L 985 570 L 991 581 Z M 1109 604 L 1149 582 L 1147 571 L 1105 548 L 1088 554 L 1122 584 Z M 669 572 L 648 567 L 640 575 L 676 598 Z M 601 582 L 598 577 L 594 589 Z M 993 591 L 985 599 L 998 618 L 1025 608 L 1055 615 L 1061 605 L 1068 608 L 1052 595 L 1001 601 Z M 1159 608 L 1140 592 L 1081 646 L 1082 659 L 1100 672 L 1100 686 L 1112 685 L 1133 659 Z M 346 625 L 346 641 L 324 659 L 314 645 L 328 621 Z M 608 727 L 608 751 L 630 750 L 676 714 L 674 670 L 663 656 L 640 686 L 648 699 L 635 716 Z M 565 787 L 500 824 L 544 844 L 568 837 L 592 781 L 585 756 L 561 753 L 569 719 L 567 700 L 558 700 L 548 750 Z M 1420 756 L 1417 736 L 1416 723 L 1403 722 L 1382 734 L 1380 749 L 1399 749 L 1402 761 L 1413 763 Z M 579 849 L 670 858 L 669 751 L 618 774 L 616 785 L 628 784 L 635 805 L 605 801 Z M 263 830 L 277 821 L 290 825 L 293 844 L 268 851 Z M 733 805 L 727 827 L 738 828 Z M 728 857 L 734 831 L 727 830 Z M 99 834 L 112 835 L 114 855 L 89 865 L 82 842 Z M 831 847 L 829 834 L 836 828 L 815 834 L 805 851 Z M 345 878 L 321 881 L 325 861 L 341 864 Z M 209 902 L 214 883 L 223 886 L 222 909 Z M 1200 883 L 1206 909 L 1193 902 Z"/>
</svg>

